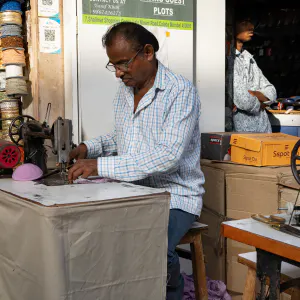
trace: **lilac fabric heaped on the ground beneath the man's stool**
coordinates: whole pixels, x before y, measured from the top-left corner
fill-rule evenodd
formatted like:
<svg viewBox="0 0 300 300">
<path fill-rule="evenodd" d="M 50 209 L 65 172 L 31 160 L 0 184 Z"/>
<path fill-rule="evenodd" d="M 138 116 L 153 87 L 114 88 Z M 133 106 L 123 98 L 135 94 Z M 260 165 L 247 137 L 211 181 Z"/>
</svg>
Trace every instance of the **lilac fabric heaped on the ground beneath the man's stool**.
<svg viewBox="0 0 300 300">
<path fill-rule="evenodd" d="M 192 275 L 182 273 L 184 279 L 184 295 L 182 300 L 195 300 L 195 286 Z M 220 280 L 211 280 L 207 278 L 208 300 L 231 300 L 227 293 L 226 285 Z"/>
</svg>

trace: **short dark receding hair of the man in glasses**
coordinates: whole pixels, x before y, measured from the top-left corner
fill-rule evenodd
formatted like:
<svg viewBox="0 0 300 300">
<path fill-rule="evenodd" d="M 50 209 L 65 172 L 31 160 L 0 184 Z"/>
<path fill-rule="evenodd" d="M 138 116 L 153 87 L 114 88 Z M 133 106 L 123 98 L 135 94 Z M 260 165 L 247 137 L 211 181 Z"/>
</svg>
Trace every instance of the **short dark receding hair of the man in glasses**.
<svg viewBox="0 0 300 300">
<path fill-rule="evenodd" d="M 132 42 L 137 51 L 146 44 L 152 45 L 154 52 L 159 50 L 158 40 L 154 34 L 139 24 L 132 22 L 114 24 L 102 38 L 103 47 L 111 46 L 117 36 L 122 36 L 126 41 Z"/>
</svg>

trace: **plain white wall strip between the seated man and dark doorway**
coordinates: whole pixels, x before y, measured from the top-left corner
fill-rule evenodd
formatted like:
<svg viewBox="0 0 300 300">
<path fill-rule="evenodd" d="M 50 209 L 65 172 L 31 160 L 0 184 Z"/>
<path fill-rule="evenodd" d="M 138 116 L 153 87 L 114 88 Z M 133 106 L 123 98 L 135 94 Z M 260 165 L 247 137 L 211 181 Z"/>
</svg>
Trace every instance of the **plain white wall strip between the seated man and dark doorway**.
<svg viewBox="0 0 300 300">
<path fill-rule="evenodd" d="M 197 0 L 196 84 L 202 102 L 202 132 L 224 131 L 225 2 Z"/>
</svg>

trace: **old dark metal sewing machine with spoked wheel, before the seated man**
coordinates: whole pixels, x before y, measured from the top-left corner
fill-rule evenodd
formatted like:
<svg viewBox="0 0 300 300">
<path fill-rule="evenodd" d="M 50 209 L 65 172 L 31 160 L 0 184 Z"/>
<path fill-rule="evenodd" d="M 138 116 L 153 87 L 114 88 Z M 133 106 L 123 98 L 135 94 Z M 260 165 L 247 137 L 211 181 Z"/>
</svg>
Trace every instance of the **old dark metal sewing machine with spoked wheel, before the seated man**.
<svg viewBox="0 0 300 300">
<path fill-rule="evenodd" d="M 12 142 L 24 147 L 24 162 L 37 165 L 44 175 L 48 173 L 45 140 L 51 140 L 60 173 L 66 174 L 69 153 L 74 147 L 72 135 L 72 121 L 61 117 L 50 128 L 46 121 L 40 123 L 31 116 L 22 115 L 12 120 L 9 127 Z"/>
</svg>

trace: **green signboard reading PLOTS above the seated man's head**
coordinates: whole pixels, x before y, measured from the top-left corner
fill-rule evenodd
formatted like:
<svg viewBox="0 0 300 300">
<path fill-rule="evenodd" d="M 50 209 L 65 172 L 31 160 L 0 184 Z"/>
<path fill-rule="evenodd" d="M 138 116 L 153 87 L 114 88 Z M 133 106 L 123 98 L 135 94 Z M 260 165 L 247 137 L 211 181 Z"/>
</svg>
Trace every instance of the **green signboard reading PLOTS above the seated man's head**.
<svg viewBox="0 0 300 300">
<path fill-rule="evenodd" d="M 194 0 L 82 0 L 83 24 L 131 21 L 143 26 L 193 30 Z"/>
</svg>

